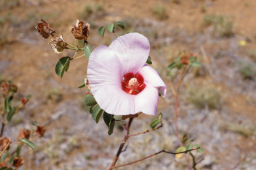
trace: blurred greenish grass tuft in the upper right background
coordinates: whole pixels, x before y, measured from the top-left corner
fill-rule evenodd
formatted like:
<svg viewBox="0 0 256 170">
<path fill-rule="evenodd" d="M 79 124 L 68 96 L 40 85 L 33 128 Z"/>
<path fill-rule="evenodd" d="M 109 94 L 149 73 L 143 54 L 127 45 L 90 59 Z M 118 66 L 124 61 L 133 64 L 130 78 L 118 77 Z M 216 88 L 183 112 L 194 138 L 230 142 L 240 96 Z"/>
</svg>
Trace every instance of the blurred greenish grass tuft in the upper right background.
<svg viewBox="0 0 256 170">
<path fill-rule="evenodd" d="M 209 27 L 213 25 L 213 35 L 215 37 L 232 37 L 233 33 L 233 23 L 229 21 L 224 15 L 205 15 L 203 18 L 203 27 Z"/>
</svg>

